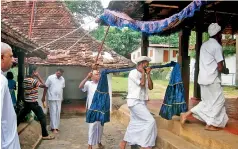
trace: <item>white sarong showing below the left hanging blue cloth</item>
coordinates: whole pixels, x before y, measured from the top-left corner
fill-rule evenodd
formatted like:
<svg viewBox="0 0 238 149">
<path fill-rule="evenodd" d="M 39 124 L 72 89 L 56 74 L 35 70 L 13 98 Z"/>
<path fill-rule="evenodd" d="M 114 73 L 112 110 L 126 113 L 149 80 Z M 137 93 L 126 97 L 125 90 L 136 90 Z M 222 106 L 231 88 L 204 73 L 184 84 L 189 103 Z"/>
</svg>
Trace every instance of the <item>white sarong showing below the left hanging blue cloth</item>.
<svg viewBox="0 0 238 149">
<path fill-rule="evenodd" d="M 88 128 L 88 144 L 89 145 L 97 145 L 101 143 L 102 134 L 103 134 L 103 126 L 101 122 L 97 121 L 94 123 L 89 123 Z"/>
</svg>

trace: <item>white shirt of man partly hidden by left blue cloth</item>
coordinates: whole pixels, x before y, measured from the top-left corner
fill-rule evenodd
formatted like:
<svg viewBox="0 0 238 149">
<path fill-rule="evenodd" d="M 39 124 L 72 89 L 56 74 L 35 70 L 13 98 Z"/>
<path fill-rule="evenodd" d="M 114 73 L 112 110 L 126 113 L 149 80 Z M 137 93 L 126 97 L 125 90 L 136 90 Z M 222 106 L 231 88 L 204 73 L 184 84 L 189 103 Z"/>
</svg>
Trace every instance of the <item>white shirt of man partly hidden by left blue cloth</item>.
<svg viewBox="0 0 238 149">
<path fill-rule="evenodd" d="M 86 101 L 86 107 L 87 109 L 90 109 L 90 106 L 93 101 L 93 96 L 98 87 L 98 83 L 94 83 L 93 81 L 87 81 L 84 84 L 84 87 L 82 89 L 83 92 L 87 92 L 87 101 Z"/>
</svg>

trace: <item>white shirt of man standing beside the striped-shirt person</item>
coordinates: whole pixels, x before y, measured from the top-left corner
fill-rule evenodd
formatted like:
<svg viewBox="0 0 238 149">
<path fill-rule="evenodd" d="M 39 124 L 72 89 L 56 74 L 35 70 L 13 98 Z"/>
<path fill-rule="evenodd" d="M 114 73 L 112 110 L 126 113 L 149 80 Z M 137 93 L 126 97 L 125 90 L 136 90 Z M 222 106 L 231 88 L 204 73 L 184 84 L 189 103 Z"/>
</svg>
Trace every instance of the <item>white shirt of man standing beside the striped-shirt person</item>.
<svg viewBox="0 0 238 149">
<path fill-rule="evenodd" d="M 48 87 L 48 100 L 63 100 L 63 88 L 65 87 L 63 76 L 57 78 L 56 74 L 50 75 L 45 85 Z"/>
</svg>

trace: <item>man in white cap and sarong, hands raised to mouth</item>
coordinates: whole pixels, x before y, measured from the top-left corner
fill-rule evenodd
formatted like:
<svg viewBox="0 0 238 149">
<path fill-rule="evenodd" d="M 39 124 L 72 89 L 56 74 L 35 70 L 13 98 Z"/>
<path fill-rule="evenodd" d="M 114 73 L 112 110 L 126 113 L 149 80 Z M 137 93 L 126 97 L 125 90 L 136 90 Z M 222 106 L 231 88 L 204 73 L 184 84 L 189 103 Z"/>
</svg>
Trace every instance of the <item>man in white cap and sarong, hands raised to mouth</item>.
<svg viewBox="0 0 238 149">
<path fill-rule="evenodd" d="M 149 57 L 139 57 L 136 60 L 136 69 L 129 73 L 127 105 L 130 109 L 130 123 L 120 143 L 120 149 L 125 149 L 127 142 L 129 145 L 139 145 L 144 149 L 155 146 L 157 126 L 146 106 L 148 89 L 153 89 L 151 68 L 148 67 L 150 61 Z"/>
</svg>

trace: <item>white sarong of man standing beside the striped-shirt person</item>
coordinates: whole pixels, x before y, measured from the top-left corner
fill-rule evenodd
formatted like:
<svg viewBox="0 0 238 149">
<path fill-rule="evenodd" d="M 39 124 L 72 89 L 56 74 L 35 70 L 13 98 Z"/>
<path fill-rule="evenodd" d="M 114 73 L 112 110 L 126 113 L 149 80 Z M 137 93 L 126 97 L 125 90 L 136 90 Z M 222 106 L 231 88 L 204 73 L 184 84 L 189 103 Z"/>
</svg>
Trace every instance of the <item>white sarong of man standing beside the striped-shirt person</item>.
<svg viewBox="0 0 238 149">
<path fill-rule="evenodd" d="M 62 100 L 49 100 L 51 129 L 59 129 L 61 103 Z"/>
</svg>

